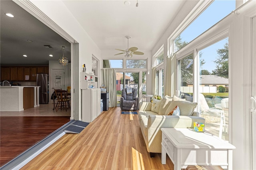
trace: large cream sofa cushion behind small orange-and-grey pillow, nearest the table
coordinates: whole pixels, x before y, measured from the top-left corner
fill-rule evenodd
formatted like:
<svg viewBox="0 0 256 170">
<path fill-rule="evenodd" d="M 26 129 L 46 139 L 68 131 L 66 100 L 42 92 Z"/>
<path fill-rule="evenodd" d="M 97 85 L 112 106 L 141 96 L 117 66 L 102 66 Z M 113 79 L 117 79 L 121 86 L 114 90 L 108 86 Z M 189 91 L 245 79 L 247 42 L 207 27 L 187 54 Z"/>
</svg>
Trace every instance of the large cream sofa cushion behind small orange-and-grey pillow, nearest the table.
<svg viewBox="0 0 256 170">
<path fill-rule="evenodd" d="M 197 103 L 192 103 L 190 101 L 172 101 L 165 115 L 168 115 L 168 113 L 172 111 L 172 109 L 177 105 L 180 108 L 181 116 L 191 116 L 194 112 L 194 109 L 196 108 Z"/>
</svg>

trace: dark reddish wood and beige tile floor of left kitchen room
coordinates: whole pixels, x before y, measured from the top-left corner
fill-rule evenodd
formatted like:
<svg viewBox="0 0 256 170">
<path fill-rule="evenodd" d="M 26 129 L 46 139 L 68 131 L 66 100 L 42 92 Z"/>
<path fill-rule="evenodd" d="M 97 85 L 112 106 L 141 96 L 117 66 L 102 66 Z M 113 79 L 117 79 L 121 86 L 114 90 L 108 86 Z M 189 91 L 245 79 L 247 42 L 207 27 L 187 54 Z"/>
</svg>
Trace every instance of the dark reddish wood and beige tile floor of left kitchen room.
<svg viewBox="0 0 256 170">
<path fill-rule="evenodd" d="M 56 112 L 52 108 L 46 104 L 20 112 L 0 112 L 0 166 L 70 121 L 70 110 Z"/>
</svg>

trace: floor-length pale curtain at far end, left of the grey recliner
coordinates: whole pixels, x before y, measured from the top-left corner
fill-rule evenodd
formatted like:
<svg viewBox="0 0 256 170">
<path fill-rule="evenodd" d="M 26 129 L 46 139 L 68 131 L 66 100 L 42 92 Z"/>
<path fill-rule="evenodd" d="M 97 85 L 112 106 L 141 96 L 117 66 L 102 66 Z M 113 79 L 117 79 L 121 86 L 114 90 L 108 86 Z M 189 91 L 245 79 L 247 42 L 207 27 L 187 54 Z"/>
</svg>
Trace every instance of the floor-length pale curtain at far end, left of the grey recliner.
<svg viewBox="0 0 256 170">
<path fill-rule="evenodd" d="M 116 101 L 116 70 L 102 69 L 102 82 L 109 93 L 109 107 L 117 107 Z"/>
</svg>

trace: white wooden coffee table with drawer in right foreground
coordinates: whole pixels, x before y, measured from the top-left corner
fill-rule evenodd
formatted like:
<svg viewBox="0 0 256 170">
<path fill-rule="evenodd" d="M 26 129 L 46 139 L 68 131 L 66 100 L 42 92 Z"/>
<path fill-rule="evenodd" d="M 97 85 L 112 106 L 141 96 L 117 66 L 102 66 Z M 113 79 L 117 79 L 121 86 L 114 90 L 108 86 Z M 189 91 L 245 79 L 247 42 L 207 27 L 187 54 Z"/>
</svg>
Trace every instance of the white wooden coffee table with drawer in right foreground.
<svg viewBox="0 0 256 170">
<path fill-rule="evenodd" d="M 232 170 L 232 144 L 209 133 L 194 132 L 189 128 L 161 128 L 162 164 L 166 153 L 174 164 L 174 170 L 188 165 L 221 166 Z"/>
</svg>

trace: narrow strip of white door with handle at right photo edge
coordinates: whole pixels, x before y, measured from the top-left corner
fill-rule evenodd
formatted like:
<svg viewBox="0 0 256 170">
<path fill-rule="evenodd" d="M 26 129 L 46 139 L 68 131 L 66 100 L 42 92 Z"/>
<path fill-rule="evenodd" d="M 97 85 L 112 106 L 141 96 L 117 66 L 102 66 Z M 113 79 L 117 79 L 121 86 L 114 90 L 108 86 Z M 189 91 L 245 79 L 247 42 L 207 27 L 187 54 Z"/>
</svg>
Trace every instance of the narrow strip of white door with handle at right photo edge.
<svg viewBox="0 0 256 170">
<path fill-rule="evenodd" d="M 252 169 L 256 169 L 256 17 L 252 18 L 252 84 L 251 84 Z"/>
</svg>

